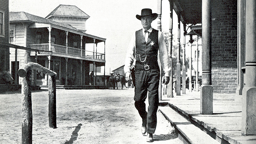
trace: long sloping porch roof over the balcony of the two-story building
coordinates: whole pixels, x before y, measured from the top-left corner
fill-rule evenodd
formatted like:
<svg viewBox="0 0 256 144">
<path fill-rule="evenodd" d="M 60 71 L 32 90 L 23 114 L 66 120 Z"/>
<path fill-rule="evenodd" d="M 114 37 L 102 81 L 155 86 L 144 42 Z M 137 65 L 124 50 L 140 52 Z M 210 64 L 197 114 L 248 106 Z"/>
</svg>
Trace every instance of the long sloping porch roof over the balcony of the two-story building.
<svg viewBox="0 0 256 144">
<path fill-rule="evenodd" d="M 45 25 L 41 25 L 42 27 L 46 27 L 46 26 L 52 26 L 54 28 L 58 28 L 58 29 L 62 29 L 65 31 L 69 31 L 72 33 L 76 33 L 79 35 L 83 35 L 88 37 L 88 41 L 87 43 L 93 43 L 93 38 L 95 38 L 95 43 L 99 43 L 99 42 L 103 42 L 106 41 L 105 38 L 101 38 L 101 37 L 97 37 L 94 35 L 90 35 L 90 34 L 86 34 L 84 32 L 81 32 L 79 30 L 77 30 L 76 28 L 67 25 L 67 24 L 63 24 L 60 22 L 56 22 L 50 19 L 46 19 L 43 17 L 39 17 L 36 15 L 32 15 L 26 12 L 10 12 L 9 13 L 9 21 L 10 23 L 15 23 L 15 22 L 30 22 L 30 23 L 34 23 L 35 27 L 37 26 L 36 24 L 45 24 Z"/>
</svg>

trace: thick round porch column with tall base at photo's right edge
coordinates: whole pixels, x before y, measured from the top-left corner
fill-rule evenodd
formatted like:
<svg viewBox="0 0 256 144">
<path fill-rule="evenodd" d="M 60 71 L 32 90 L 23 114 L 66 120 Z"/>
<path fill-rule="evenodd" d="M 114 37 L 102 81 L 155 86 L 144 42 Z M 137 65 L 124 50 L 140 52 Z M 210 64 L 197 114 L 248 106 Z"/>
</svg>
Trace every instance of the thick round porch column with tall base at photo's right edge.
<svg viewBox="0 0 256 144">
<path fill-rule="evenodd" d="M 245 87 L 242 135 L 256 135 L 256 0 L 246 0 Z"/>
</svg>

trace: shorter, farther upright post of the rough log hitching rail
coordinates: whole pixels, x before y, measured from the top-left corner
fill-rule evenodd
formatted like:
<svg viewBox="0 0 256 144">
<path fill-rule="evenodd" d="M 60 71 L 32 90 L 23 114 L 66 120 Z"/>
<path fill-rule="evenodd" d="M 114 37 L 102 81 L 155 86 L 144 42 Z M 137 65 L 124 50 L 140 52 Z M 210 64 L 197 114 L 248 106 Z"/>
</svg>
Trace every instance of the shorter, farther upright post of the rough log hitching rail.
<svg viewBox="0 0 256 144">
<path fill-rule="evenodd" d="M 57 128 L 57 114 L 56 114 L 56 78 L 55 76 L 49 76 L 48 82 L 49 92 L 49 127 Z"/>
</svg>

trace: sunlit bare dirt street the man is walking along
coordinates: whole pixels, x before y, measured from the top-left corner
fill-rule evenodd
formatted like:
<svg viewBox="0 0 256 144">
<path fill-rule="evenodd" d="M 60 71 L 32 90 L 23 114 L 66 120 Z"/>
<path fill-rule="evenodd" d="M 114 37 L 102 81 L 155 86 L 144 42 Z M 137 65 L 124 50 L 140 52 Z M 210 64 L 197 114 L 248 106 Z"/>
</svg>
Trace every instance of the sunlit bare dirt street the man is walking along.
<svg viewBox="0 0 256 144">
<path fill-rule="evenodd" d="M 57 128 L 49 128 L 48 91 L 32 92 L 33 144 L 143 144 L 134 89 L 57 89 Z M 21 143 L 21 92 L 0 93 L 0 143 Z M 182 144 L 158 111 L 153 143 Z"/>
</svg>

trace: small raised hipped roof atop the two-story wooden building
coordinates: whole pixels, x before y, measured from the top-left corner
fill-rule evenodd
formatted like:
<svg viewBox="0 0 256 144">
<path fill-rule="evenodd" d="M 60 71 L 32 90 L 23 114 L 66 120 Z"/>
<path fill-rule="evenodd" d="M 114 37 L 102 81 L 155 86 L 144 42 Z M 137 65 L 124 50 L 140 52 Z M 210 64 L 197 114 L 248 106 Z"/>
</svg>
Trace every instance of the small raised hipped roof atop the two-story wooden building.
<svg viewBox="0 0 256 144">
<path fill-rule="evenodd" d="M 74 5 L 59 5 L 48 16 L 66 16 L 66 17 L 82 17 L 89 18 L 90 16 Z"/>
</svg>

